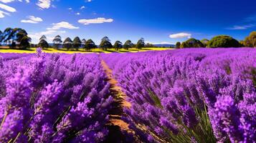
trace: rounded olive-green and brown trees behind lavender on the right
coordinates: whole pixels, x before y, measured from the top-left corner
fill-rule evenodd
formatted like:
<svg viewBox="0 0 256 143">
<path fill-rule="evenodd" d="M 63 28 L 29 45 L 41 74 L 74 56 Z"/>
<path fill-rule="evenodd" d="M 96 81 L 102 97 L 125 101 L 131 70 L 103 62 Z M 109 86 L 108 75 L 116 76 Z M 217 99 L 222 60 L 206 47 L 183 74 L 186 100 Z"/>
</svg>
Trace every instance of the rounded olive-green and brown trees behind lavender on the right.
<svg viewBox="0 0 256 143">
<path fill-rule="evenodd" d="M 177 42 L 176 48 L 199 48 L 199 47 L 207 47 L 207 48 L 218 48 L 218 47 L 256 47 L 256 31 L 252 31 L 252 33 L 245 38 L 245 41 L 237 41 L 232 38 L 232 36 L 219 35 L 214 36 L 211 40 L 202 39 L 199 41 L 198 39 L 188 39 L 184 42 Z"/>
</svg>

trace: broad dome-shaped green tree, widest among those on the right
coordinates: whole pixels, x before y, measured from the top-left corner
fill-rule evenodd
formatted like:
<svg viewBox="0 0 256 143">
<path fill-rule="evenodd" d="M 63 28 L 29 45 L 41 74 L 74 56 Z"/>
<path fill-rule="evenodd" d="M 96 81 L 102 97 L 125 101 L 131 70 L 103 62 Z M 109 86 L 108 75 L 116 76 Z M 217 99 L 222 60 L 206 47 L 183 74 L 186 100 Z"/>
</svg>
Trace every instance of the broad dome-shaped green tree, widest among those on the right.
<svg viewBox="0 0 256 143">
<path fill-rule="evenodd" d="M 208 43 L 209 48 L 227 48 L 227 47 L 240 47 L 239 41 L 233 39 L 232 36 L 219 35 L 214 36 Z"/>
</svg>

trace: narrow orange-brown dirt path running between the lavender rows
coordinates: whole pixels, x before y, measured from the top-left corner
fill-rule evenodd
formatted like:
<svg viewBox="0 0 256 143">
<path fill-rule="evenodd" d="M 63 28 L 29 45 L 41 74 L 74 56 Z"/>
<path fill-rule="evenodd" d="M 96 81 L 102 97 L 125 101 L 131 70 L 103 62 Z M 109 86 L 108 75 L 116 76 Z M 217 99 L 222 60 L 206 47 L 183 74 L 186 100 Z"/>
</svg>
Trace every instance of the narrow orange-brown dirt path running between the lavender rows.
<svg viewBox="0 0 256 143">
<path fill-rule="evenodd" d="M 125 94 L 118 87 L 118 82 L 113 78 L 112 70 L 108 67 L 105 61 L 101 61 L 101 65 L 108 76 L 110 83 L 110 92 L 114 96 L 113 109 L 110 111 L 110 123 L 108 124 L 109 135 L 105 142 L 125 142 L 125 137 L 121 131 L 132 132 L 128 128 L 128 124 L 121 119 L 124 107 L 131 107 L 131 104 L 125 101 Z"/>
</svg>

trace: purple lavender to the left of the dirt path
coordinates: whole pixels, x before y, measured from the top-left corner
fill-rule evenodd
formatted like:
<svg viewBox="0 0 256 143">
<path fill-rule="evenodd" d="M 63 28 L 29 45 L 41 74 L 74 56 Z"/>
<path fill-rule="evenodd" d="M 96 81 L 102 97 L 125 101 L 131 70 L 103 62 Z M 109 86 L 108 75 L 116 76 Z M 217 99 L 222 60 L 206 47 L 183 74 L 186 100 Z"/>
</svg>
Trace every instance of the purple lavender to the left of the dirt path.
<svg viewBox="0 0 256 143">
<path fill-rule="evenodd" d="M 102 142 L 112 102 L 96 54 L 1 54 L 0 142 Z"/>
</svg>

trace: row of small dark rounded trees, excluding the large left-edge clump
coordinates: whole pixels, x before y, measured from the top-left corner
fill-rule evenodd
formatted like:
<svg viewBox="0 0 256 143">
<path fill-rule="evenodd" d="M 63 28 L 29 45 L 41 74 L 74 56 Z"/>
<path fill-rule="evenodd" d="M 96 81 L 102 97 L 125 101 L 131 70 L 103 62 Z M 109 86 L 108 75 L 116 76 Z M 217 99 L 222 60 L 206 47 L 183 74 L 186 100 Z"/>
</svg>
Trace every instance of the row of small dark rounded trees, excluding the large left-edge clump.
<svg viewBox="0 0 256 143">
<path fill-rule="evenodd" d="M 62 37 L 60 35 L 57 35 L 54 37 L 52 42 L 53 42 L 54 48 L 56 49 L 64 48 L 67 50 L 70 50 L 70 49 L 78 50 L 82 48 L 89 51 L 91 49 L 95 49 L 98 47 L 95 45 L 95 42 L 92 39 L 88 39 L 87 41 L 85 39 L 81 40 L 78 36 L 76 36 L 75 39 L 73 39 L 73 41 L 69 37 L 67 37 L 64 41 L 62 41 Z M 40 46 L 43 49 L 47 49 L 49 47 L 49 44 L 47 43 L 47 37 L 43 35 L 39 39 L 39 44 L 37 46 Z M 144 46 L 145 46 L 145 42 L 143 38 L 139 39 L 137 44 L 133 44 L 131 40 L 127 40 L 125 41 L 125 44 L 123 44 L 121 41 L 115 41 L 115 44 L 112 45 L 108 36 L 104 36 L 103 39 L 101 39 L 99 47 L 106 51 L 110 48 L 114 48 L 115 50 L 119 50 L 122 48 L 129 49 L 133 47 L 141 49 Z M 146 46 L 151 46 L 151 45 L 147 44 Z"/>
</svg>

